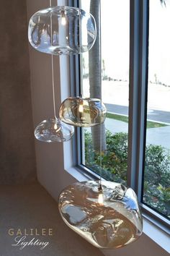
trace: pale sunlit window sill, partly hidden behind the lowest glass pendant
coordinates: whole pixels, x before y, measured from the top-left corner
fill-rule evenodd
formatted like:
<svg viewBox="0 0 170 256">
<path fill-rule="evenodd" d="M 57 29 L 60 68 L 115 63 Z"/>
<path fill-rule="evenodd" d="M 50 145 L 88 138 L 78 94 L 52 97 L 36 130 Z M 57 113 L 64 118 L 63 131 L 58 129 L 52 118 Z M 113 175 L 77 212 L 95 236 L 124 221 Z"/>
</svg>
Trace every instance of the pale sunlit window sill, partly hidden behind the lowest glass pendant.
<svg viewBox="0 0 170 256">
<path fill-rule="evenodd" d="M 71 167 L 66 169 L 68 174 L 73 176 L 78 182 L 85 182 L 90 179 L 97 179 L 99 176 L 97 174 L 86 174 L 79 167 Z M 146 234 L 150 239 L 152 239 L 156 244 L 162 247 L 166 252 L 170 253 L 169 247 L 169 235 L 163 230 L 158 228 L 156 224 L 151 223 L 148 219 L 143 216 L 143 233 Z"/>
</svg>

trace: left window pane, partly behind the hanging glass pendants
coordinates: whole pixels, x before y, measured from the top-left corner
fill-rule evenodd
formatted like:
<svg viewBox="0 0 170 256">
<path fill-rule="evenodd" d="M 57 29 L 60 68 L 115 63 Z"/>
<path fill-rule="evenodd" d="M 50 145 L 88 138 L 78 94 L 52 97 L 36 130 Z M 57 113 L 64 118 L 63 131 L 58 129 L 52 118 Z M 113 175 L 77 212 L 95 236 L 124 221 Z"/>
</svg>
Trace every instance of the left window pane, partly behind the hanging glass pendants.
<svg viewBox="0 0 170 256">
<path fill-rule="evenodd" d="M 82 0 L 81 8 L 91 12 L 91 3 L 94 4 L 94 1 Z M 128 0 L 101 0 L 101 86 L 102 101 L 107 106 L 107 119 L 102 127 L 102 135 L 105 135 L 106 140 L 104 145 L 102 137 L 102 176 L 124 184 L 128 158 L 129 20 Z M 89 61 L 93 61 L 90 54 L 94 52 L 91 50 L 81 56 L 81 93 L 84 97 L 98 98 L 99 74 L 91 74 L 89 70 Z M 93 86 L 95 88 L 91 93 L 90 87 Z M 101 170 L 99 143 L 96 143 L 97 140 L 99 142 L 99 135 L 100 127 L 96 127 L 95 131 L 91 128 L 81 129 L 81 163 L 97 173 Z"/>
</svg>

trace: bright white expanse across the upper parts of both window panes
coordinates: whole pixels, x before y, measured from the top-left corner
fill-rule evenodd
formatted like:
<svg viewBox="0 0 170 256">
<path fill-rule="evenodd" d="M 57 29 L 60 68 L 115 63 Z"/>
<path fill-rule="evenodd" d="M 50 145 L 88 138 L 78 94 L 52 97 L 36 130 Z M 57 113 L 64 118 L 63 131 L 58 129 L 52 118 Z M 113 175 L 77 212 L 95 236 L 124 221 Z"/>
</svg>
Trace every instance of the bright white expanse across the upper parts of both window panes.
<svg viewBox="0 0 170 256">
<path fill-rule="evenodd" d="M 81 0 L 89 12 L 89 0 Z M 101 0 L 102 59 L 108 77 L 128 80 L 129 0 Z M 149 80 L 170 85 L 170 0 L 150 0 Z"/>
</svg>

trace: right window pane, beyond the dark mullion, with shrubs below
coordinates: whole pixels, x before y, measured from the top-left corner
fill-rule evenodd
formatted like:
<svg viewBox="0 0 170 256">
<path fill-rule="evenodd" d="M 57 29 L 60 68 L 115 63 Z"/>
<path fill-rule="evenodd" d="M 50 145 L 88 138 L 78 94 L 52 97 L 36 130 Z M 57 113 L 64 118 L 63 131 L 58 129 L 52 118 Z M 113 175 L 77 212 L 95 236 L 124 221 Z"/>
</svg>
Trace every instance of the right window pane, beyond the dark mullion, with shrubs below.
<svg viewBox="0 0 170 256">
<path fill-rule="evenodd" d="M 170 217 L 170 4 L 150 0 L 143 202 Z"/>
</svg>

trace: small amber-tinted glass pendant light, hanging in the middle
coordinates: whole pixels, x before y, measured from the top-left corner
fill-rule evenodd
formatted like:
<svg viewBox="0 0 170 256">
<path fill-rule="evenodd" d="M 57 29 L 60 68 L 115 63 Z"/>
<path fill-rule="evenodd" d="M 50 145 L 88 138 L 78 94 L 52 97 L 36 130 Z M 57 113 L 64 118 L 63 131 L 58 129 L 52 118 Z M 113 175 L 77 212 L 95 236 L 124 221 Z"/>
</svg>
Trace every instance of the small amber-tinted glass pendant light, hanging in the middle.
<svg viewBox="0 0 170 256">
<path fill-rule="evenodd" d="M 102 124 L 107 109 L 97 98 L 67 98 L 59 109 L 60 119 L 76 127 L 93 127 Z"/>
</svg>

